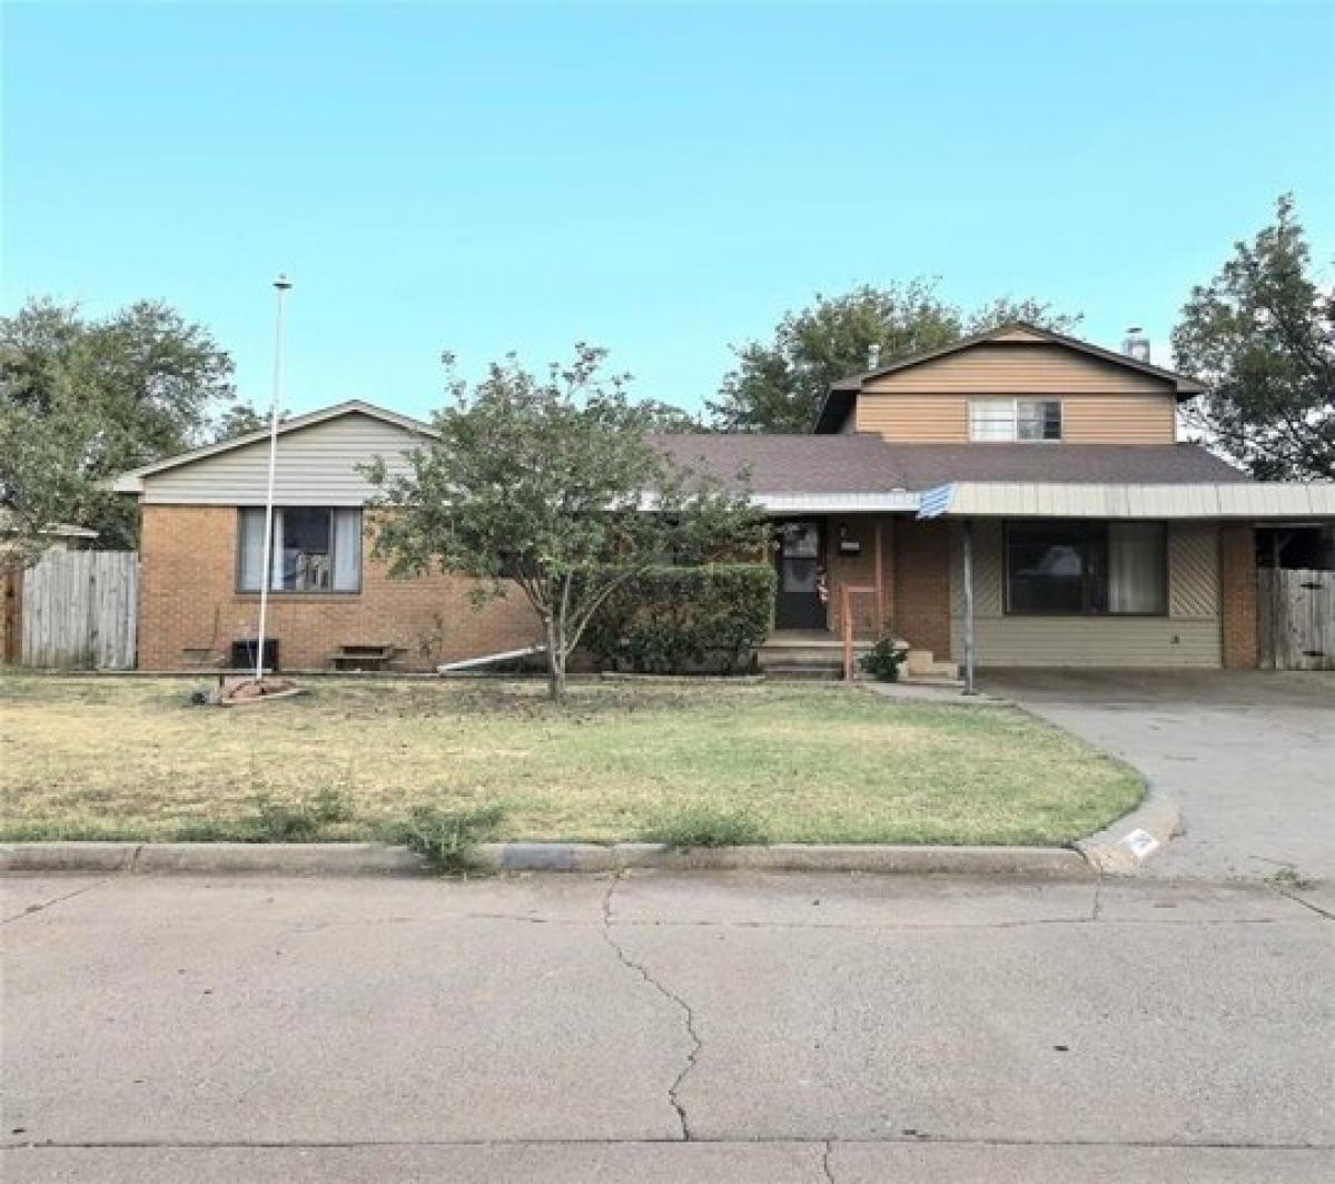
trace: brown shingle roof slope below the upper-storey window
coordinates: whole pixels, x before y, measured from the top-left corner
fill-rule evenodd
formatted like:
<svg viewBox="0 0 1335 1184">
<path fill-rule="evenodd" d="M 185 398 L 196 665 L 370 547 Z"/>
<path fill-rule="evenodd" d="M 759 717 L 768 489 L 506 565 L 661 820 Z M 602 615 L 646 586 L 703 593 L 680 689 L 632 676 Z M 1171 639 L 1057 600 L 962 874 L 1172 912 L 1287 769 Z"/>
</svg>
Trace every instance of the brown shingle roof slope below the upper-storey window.
<svg viewBox="0 0 1335 1184">
<path fill-rule="evenodd" d="M 952 481 L 1191 485 L 1250 478 L 1199 445 L 893 445 L 873 435 L 662 435 L 678 463 L 757 494 L 925 490 Z"/>
</svg>

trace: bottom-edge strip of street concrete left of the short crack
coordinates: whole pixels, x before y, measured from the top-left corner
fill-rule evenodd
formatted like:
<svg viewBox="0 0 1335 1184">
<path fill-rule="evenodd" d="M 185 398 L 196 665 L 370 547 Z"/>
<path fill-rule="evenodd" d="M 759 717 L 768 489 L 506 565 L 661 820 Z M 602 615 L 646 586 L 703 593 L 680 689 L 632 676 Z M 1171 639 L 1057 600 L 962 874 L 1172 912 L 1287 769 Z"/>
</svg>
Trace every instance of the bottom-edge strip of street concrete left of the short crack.
<svg viewBox="0 0 1335 1184">
<path fill-rule="evenodd" d="M 824 1147 L 510 1144 L 336 1148 L 49 1148 L 4 1153 L 8 1184 L 813 1184 Z"/>
</svg>

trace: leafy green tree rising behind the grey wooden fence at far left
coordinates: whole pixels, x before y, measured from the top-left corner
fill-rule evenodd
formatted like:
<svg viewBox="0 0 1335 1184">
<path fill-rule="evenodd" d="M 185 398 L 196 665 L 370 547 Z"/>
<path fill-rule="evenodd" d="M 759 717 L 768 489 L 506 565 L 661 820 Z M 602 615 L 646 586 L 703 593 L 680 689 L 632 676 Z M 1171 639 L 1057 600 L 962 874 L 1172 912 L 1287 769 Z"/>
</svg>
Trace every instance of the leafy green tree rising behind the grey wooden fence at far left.
<svg viewBox="0 0 1335 1184">
<path fill-rule="evenodd" d="M 49 514 L 47 525 L 91 526 L 99 546 L 132 545 L 134 507 L 107 482 L 208 439 L 231 374 L 210 332 L 166 304 L 91 320 L 75 304 L 29 300 L 0 318 L 0 507 L 20 523 Z M 40 542 L 29 534 L 25 550 Z"/>
</svg>

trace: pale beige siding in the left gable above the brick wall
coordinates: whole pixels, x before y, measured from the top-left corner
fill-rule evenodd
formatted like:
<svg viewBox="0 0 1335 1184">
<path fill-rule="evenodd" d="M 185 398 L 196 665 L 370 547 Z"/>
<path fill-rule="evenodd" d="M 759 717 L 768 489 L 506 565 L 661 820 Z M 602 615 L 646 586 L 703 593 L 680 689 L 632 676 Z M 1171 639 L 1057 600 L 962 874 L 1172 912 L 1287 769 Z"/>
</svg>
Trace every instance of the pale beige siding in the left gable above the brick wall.
<svg viewBox="0 0 1335 1184">
<path fill-rule="evenodd" d="M 406 428 L 360 414 L 280 435 L 274 501 L 280 506 L 360 506 L 374 487 L 356 466 L 380 455 L 391 471 L 402 471 L 405 451 L 418 440 Z M 267 481 L 268 442 L 259 440 L 146 477 L 143 499 L 150 505 L 263 505 Z"/>
</svg>

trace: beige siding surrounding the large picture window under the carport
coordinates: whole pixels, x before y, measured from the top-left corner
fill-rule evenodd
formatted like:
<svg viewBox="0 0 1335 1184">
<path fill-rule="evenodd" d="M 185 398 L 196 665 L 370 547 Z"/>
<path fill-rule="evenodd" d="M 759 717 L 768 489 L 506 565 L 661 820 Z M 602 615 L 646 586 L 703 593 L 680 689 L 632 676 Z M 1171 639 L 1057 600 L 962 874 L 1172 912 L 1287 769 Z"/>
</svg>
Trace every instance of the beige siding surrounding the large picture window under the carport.
<svg viewBox="0 0 1335 1184">
<path fill-rule="evenodd" d="M 1168 525 L 1167 617 L 1008 617 L 1001 523 L 977 522 L 973 531 L 975 639 L 980 666 L 1222 665 L 1219 530 L 1214 523 Z M 959 527 L 951 570 L 951 650 L 956 661 L 964 658 Z"/>
</svg>

